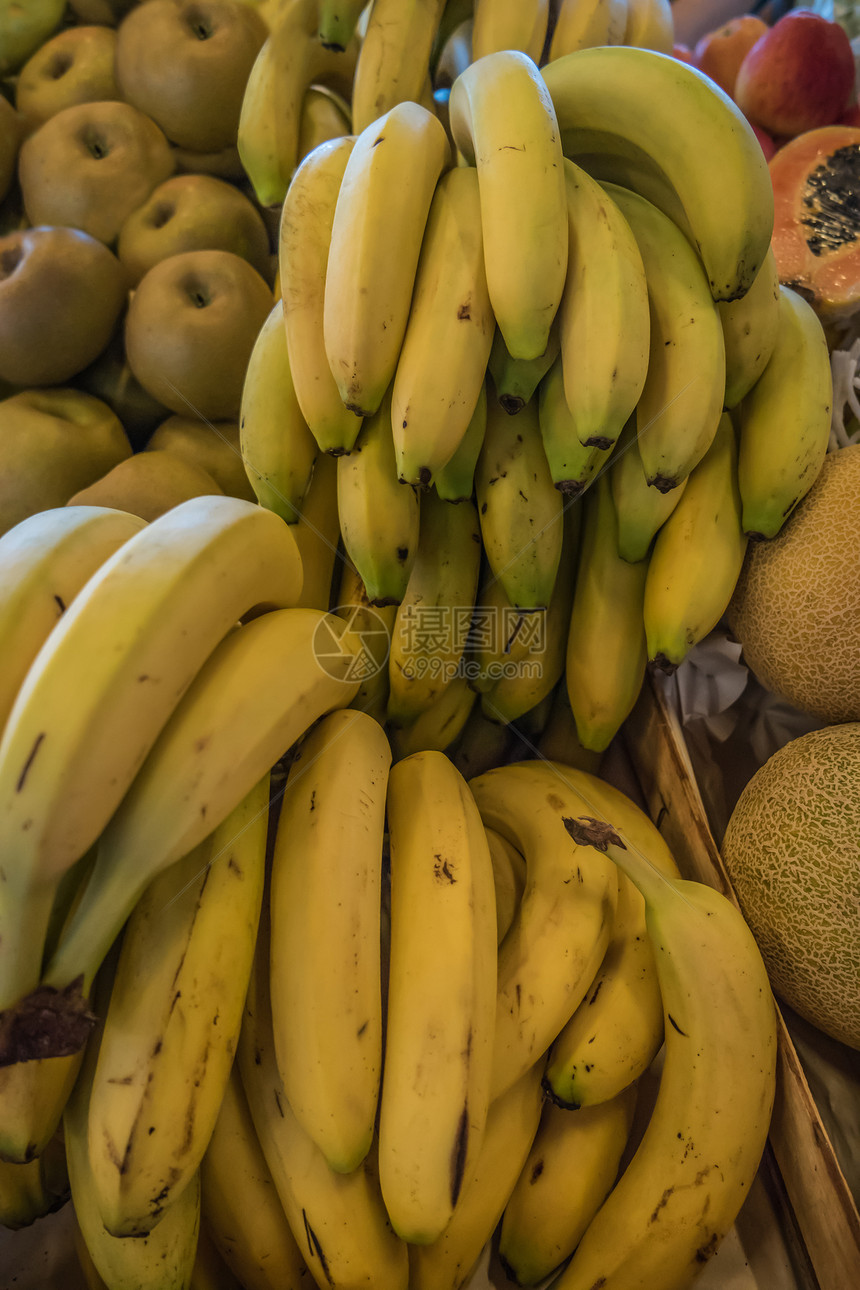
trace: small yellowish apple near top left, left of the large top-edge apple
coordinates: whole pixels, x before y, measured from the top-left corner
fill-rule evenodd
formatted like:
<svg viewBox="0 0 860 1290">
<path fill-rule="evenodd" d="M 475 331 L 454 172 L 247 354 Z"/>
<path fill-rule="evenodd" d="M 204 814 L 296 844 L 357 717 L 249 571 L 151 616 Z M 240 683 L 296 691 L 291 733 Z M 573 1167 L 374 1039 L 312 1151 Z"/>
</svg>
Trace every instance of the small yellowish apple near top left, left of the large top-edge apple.
<svg viewBox="0 0 860 1290">
<path fill-rule="evenodd" d="M 35 128 L 73 103 L 119 98 L 112 27 L 67 27 L 45 41 L 21 68 L 15 107 Z"/>
</svg>

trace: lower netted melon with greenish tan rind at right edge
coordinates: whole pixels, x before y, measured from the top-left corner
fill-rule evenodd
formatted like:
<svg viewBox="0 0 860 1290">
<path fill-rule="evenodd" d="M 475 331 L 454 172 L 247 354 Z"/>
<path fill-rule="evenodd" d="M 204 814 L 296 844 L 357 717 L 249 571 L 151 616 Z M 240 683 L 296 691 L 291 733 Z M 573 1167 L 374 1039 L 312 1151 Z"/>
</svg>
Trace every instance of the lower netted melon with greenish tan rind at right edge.
<svg viewBox="0 0 860 1290">
<path fill-rule="evenodd" d="M 756 771 L 722 855 L 774 993 L 860 1049 L 860 722 L 792 739 Z"/>
</svg>

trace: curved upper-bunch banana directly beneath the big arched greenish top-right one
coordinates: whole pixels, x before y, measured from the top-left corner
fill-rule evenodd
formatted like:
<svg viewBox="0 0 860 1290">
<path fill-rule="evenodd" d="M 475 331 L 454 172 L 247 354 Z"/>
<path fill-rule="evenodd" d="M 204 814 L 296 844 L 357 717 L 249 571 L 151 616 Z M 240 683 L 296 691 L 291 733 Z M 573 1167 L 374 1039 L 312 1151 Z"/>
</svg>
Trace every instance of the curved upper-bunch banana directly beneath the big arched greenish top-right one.
<svg viewBox="0 0 860 1290">
<path fill-rule="evenodd" d="M 636 423 L 646 479 L 668 491 L 717 432 L 726 343 L 704 270 L 681 230 L 638 194 L 605 187 L 633 230 L 649 281 L 651 343 Z"/>
</svg>

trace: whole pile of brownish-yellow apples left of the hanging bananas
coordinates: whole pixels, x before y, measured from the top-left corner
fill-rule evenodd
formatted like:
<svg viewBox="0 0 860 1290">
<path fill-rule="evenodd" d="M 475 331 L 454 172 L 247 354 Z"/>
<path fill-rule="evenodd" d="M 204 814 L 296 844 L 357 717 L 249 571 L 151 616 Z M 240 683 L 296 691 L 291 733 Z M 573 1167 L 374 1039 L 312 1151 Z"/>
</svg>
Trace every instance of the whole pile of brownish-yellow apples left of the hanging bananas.
<svg viewBox="0 0 860 1290">
<path fill-rule="evenodd" d="M 86 490 L 133 457 L 156 511 L 253 499 L 237 419 L 276 227 L 236 141 L 263 13 L 0 0 L 0 533 L 72 498 L 121 504 L 121 480 Z"/>
</svg>

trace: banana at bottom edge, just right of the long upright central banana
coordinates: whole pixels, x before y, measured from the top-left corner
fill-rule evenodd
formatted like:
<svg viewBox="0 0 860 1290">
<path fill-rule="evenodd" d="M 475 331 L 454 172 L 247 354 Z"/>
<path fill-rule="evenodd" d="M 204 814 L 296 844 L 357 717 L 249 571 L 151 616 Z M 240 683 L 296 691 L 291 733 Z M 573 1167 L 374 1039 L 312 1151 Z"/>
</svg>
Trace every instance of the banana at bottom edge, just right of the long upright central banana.
<svg viewBox="0 0 860 1290">
<path fill-rule="evenodd" d="M 469 1282 L 538 1131 L 542 1069 L 535 1062 L 491 1104 L 481 1149 L 447 1227 L 432 1245 L 409 1249 L 410 1290 L 451 1290 Z"/>
</svg>

